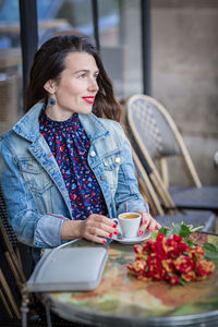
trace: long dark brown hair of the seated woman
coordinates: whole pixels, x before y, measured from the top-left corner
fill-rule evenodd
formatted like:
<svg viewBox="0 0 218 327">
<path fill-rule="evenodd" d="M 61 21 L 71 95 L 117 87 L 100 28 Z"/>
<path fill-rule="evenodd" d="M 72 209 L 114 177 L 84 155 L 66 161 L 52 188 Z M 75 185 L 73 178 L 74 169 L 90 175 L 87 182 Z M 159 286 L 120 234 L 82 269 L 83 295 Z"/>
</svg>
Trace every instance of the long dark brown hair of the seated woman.
<svg viewBox="0 0 218 327">
<path fill-rule="evenodd" d="M 36 102 L 45 101 L 48 94 L 44 85 L 49 80 L 59 80 L 65 69 L 64 60 L 70 52 L 87 52 L 95 58 L 99 70 L 97 77 L 98 93 L 93 106 L 93 112 L 97 117 L 120 121 L 121 108 L 113 94 L 112 84 L 108 77 L 102 61 L 90 41 L 81 36 L 61 35 L 47 40 L 36 52 L 31 70 L 29 83 L 25 90 L 25 111 Z"/>
</svg>

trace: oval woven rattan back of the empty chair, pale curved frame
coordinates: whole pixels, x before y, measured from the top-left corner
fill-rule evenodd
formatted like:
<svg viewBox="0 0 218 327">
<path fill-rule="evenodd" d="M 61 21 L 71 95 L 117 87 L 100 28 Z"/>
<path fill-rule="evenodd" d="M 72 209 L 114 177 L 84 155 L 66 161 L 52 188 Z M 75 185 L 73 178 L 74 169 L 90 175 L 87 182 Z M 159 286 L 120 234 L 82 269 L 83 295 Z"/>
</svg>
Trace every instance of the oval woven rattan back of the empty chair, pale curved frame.
<svg viewBox="0 0 218 327">
<path fill-rule="evenodd" d="M 146 160 L 159 160 L 161 179 L 169 186 L 166 158 L 180 157 L 185 165 L 190 184 L 199 187 L 201 181 L 172 118 L 157 100 L 145 95 L 134 95 L 128 101 L 128 122 L 133 137 Z M 148 159 L 149 165 L 152 164 Z M 152 167 L 155 168 L 152 164 Z"/>
</svg>

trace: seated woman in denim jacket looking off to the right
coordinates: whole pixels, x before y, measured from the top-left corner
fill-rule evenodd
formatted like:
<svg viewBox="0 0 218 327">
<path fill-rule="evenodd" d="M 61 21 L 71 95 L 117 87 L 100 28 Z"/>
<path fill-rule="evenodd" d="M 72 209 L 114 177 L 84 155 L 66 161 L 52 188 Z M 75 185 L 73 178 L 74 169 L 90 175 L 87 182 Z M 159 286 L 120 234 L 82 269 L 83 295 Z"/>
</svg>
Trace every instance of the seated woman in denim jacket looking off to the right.
<svg viewBox="0 0 218 327">
<path fill-rule="evenodd" d="M 143 213 L 138 234 L 160 228 L 137 189 L 120 108 L 89 41 L 65 35 L 36 52 L 27 113 L 1 137 L 1 186 L 19 240 L 53 247 L 117 234 L 112 217 Z"/>
</svg>

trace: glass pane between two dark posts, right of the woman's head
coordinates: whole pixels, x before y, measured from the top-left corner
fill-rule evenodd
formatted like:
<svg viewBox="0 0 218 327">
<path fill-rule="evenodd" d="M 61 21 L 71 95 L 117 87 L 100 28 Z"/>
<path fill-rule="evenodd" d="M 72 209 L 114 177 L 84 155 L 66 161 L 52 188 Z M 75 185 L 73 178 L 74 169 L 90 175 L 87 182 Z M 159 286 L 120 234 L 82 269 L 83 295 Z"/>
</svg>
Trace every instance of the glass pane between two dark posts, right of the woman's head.
<svg viewBox="0 0 218 327">
<path fill-rule="evenodd" d="M 98 5 L 102 61 L 118 99 L 126 99 L 143 88 L 140 1 L 100 0 Z"/>
</svg>

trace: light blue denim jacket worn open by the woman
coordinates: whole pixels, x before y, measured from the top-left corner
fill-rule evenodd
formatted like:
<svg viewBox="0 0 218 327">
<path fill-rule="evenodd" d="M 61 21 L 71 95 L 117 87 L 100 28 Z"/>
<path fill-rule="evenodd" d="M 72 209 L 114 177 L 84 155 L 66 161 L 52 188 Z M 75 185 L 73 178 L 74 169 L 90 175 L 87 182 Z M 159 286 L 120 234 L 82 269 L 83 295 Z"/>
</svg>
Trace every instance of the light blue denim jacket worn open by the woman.
<svg viewBox="0 0 218 327">
<path fill-rule="evenodd" d="M 61 244 L 61 226 L 74 219 L 58 164 L 43 135 L 35 105 L 0 140 L 0 180 L 9 222 L 19 240 L 37 247 Z M 90 141 L 88 165 L 102 191 L 108 216 L 148 211 L 138 192 L 131 146 L 121 125 L 95 114 L 78 114 Z"/>
</svg>

